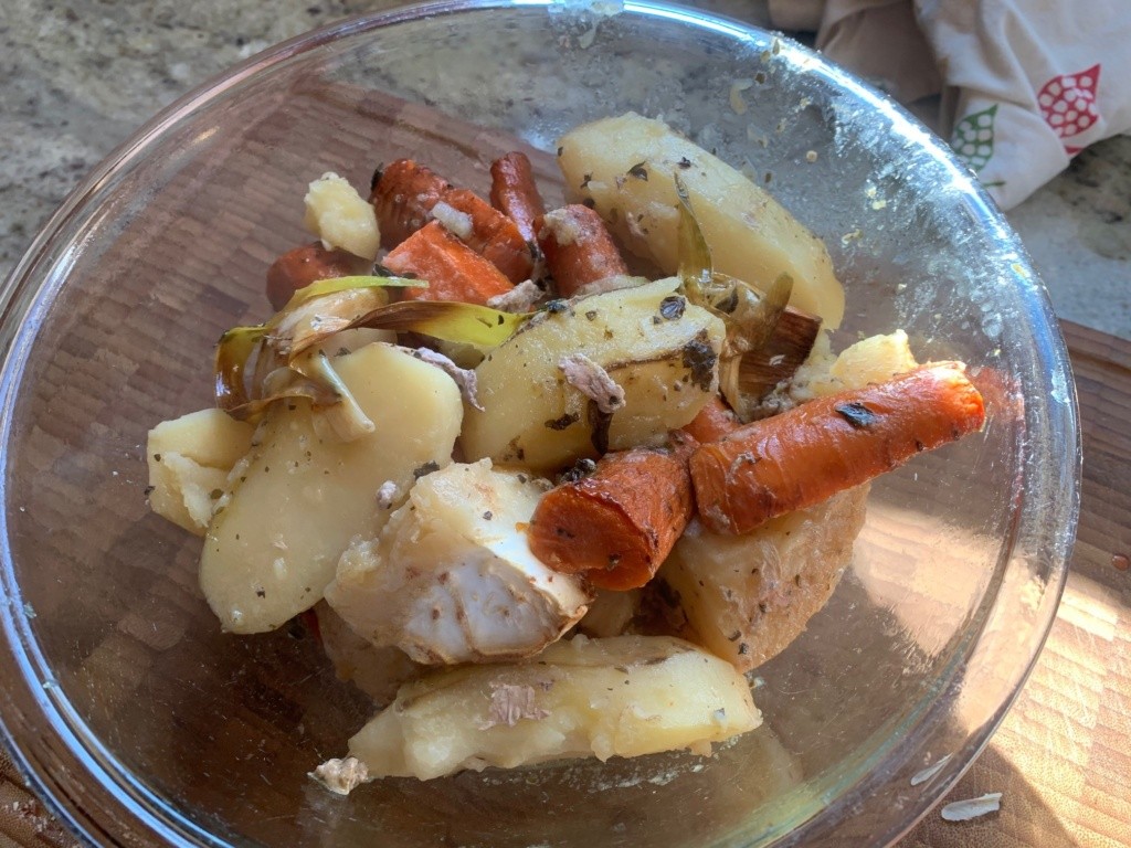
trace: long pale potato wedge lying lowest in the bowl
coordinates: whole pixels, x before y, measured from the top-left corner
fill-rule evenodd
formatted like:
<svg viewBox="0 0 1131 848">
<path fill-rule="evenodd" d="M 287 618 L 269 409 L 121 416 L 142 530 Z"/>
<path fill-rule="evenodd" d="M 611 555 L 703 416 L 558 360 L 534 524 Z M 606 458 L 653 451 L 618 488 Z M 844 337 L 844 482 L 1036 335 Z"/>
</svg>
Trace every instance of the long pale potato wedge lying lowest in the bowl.
<svg viewBox="0 0 1131 848">
<path fill-rule="evenodd" d="M 708 753 L 761 724 L 725 661 L 670 637 L 576 637 L 521 665 L 464 666 L 400 689 L 349 741 L 371 777 L 578 756 Z"/>
</svg>

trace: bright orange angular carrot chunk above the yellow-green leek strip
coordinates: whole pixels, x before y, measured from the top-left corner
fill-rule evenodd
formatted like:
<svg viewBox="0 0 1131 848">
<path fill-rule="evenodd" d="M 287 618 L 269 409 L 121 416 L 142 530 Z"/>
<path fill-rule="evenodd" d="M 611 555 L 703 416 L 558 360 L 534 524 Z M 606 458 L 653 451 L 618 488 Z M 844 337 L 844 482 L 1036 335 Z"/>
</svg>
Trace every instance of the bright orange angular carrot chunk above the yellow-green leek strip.
<svg viewBox="0 0 1131 848">
<path fill-rule="evenodd" d="M 386 258 L 394 274 L 411 274 L 428 280 L 426 288 L 405 288 L 405 300 L 461 301 L 480 305 L 512 286 L 502 271 L 431 222 L 398 244 Z"/>
</svg>

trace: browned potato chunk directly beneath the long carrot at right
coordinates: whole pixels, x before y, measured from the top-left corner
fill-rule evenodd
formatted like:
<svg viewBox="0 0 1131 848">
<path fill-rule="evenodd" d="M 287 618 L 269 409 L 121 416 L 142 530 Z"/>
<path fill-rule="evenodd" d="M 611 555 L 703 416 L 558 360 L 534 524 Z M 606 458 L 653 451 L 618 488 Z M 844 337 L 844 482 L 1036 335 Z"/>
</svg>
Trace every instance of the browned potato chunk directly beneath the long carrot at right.
<svg viewBox="0 0 1131 848">
<path fill-rule="evenodd" d="M 784 650 L 820 611 L 852 562 L 867 486 L 770 519 L 742 536 L 692 521 L 656 579 L 693 631 L 689 639 L 740 672 Z"/>
</svg>

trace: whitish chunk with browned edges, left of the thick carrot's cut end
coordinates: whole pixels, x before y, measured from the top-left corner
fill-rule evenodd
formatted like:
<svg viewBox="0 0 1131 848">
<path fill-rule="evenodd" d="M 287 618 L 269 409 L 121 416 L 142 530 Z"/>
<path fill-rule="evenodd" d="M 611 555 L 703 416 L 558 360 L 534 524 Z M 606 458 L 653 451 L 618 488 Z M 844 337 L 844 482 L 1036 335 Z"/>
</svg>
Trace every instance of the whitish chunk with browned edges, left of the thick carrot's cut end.
<svg viewBox="0 0 1131 848">
<path fill-rule="evenodd" d="M 490 460 L 421 477 L 379 537 L 345 552 L 327 602 L 359 635 L 417 663 L 537 654 L 589 600 L 578 579 L 530 553 L 520 529 L 543 491 Z"/>
</svg>

